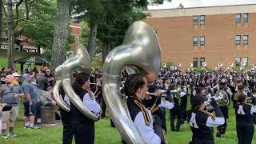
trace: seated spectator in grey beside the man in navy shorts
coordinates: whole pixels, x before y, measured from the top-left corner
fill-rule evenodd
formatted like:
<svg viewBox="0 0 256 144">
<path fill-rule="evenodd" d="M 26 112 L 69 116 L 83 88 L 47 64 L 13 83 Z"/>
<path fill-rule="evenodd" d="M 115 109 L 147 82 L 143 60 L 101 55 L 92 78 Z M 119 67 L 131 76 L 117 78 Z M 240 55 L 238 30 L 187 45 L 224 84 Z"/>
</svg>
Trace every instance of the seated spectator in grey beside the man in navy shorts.
<svg viewBox="0 0 256 144">
<path fill-rule="evenodd" d="M 41 102 L 42 106 L 56 106 L 56 102 L 53 98 L 54 88 L 52 86 L 47 87 L 47 91 L 42 94 Z"/>
</svg>

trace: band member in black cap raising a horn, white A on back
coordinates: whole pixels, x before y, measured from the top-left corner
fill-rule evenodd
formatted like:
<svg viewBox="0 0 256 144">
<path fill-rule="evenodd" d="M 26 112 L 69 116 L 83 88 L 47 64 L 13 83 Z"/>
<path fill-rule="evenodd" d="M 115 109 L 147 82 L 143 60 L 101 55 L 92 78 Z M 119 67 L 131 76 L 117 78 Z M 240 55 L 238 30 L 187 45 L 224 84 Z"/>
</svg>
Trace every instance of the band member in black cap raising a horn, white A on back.
<svg viewBox="0 0 256 144">
<path fill-rule="evenodd" d="M 191 98 L 192 110 L 188 111 L 187 119 L 193 133 L 190 144 L 214 144 L 212 127 L 220 126 L 225 122 L 222 111 L 219 109 L 214 98 L 211 98 L 211 100 L 216 116 L 205 111 L 204 102 L 206 100 L 206 97 L 203 97 L 200 94 L 197 94 Z"/>
</svg>

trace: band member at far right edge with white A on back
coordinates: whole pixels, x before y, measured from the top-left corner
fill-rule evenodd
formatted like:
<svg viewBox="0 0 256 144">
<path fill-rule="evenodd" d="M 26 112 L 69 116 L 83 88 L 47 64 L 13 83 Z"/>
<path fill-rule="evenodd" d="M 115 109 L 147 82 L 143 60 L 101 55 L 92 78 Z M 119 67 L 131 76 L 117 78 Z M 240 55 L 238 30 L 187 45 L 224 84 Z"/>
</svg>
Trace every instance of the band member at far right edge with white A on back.
<svg viewBox="0 0 256 144">
<path fill-rule="evenodd" d="M 246 102 L 246 95 L 241 94 L 235 105 L 238 144 L 250 144 L 254 136 L 253 114 L 256 113 L 256 107 Z"/>
</svg>

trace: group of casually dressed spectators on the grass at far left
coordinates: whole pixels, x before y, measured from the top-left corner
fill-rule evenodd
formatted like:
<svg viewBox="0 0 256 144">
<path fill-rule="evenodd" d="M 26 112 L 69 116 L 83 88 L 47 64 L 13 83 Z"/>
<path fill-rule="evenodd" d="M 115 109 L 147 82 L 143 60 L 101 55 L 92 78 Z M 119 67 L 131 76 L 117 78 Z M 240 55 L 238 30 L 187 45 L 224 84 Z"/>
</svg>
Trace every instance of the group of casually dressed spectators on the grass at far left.
<svg viewBox="0 0 256 144">
<path fill-rule="evenodd" d="M 54 77 L 50 70 L 25 70 L 18 74 L 14 68 L 2 68 L 0 72 L 0 103 L 11 106 L 2 112 L 2 138 L 16 137 L 14 122 L 18 118 L 20 101 L 24 106 L 24 126 L 39 129 L 35 123 L 41 123 L 41 106 L 56 106 L 53 97 Z M 7 133 L 9 128 L 9 133 Z"/>
</svg>

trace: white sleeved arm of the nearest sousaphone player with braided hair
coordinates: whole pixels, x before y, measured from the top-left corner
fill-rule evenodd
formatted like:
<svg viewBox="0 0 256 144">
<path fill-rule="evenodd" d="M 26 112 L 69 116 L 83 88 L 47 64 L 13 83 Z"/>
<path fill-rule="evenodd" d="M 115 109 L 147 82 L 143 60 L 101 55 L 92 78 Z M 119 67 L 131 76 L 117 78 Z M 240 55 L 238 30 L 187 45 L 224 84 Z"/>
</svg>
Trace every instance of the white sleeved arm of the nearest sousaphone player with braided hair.
<svg viewBox="0 0 256 144">
<path fill-rule="evenodd" d="M 136 115 L 134 119 L 134 125 L 138 130 L 139 134 L 141 135 L 144 142 L 146 142 L 147 144 L 161 143 L 161 139 L 158 137 L 157 134 L 154 133 L 152 124 L 150 124 L 150 126 L 146 125 L 142 112 L 139 112 Z"/>
</svg>

